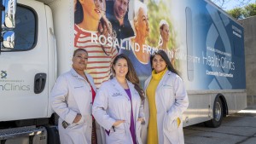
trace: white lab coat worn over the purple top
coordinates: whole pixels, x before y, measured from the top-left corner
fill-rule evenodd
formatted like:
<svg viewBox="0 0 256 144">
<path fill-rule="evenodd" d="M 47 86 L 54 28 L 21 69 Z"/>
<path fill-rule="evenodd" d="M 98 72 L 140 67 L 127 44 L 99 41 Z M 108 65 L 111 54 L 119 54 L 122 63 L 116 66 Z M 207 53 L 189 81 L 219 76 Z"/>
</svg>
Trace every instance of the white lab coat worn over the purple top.
<svg viewBox="0 0 256 144">
<path fill-rule="evenodd" d="M 102 84 L 96 94 L 96 99 L 92 107 L 92 113 L 98 124 L 105 130 L 110 130 L 109 135 L 105 132 L 107 144 L 131 144 L 131 102 L 133 110 L 133 120 L 136 130 L 137 144 L 142 144 L 141 122 L 137 118 L 144 118 L 143 103 L 134 85 L 127 80 L 131 91 L 131 101 L 121 87 L 116 78 Z M 125 123 L 112 128 L 116 120 L 125 120 Z"/>
</svg>

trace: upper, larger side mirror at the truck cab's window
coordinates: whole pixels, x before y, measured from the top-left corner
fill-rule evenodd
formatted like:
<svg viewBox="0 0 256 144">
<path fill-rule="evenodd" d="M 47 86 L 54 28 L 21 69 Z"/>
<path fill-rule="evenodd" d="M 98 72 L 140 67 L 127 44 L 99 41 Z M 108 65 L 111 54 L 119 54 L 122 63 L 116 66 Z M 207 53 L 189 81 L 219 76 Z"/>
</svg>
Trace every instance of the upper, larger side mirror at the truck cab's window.
<svg viewBox="0 0 256 144">
<path fill-rule="evenodd" d="M 15 28 L 16 0 L 3 0 L 2 28 Z M 4 26 L 4 27 L 3 27 Z"/>
</svg>

